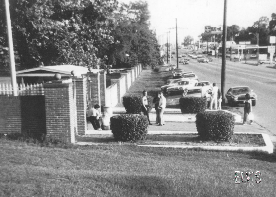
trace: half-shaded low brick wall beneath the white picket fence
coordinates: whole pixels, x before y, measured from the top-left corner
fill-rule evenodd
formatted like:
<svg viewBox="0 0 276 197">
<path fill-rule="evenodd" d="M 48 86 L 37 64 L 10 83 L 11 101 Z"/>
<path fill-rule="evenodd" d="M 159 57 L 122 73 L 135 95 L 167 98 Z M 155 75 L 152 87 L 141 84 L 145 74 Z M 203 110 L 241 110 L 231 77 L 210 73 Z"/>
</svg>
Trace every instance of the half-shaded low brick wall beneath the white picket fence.
<svg viewBox="0 0 276 197">
<path fill-rule="evenodd" d="M 0 96 L 0 133 L 46 132 L 44 96 Z"/>
</svg>

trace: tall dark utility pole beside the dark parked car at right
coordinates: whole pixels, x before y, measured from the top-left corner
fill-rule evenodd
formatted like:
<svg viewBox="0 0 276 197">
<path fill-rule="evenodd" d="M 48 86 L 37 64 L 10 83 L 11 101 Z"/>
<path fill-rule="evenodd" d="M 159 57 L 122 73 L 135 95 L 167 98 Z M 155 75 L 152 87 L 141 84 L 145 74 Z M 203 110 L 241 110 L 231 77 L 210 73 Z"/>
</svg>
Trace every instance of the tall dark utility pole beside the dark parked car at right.
<svg viewBox="0 0 276 197">
<path fill-rule="evenodd" d="M 222 94 L 222 104 L 225 103 L 225 64 L 226 64 L 226 13 L 227 13 L 227 0 L 224 0 L 224 13 L 223 13 L 223 32 L 222 32 L 222 63 L 221 63 L 221 94 Z"/>
</svg>

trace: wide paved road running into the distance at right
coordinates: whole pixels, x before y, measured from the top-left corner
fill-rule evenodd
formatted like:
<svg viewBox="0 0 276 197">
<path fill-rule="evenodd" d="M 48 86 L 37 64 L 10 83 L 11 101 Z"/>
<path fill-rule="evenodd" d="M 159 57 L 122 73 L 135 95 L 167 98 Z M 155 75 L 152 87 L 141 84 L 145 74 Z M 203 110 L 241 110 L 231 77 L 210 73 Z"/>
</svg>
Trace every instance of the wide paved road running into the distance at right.
<svg viewBox="0 0 276 197">
<path fill-rule="evenodd" d="M 172 64 L 176 63 L 176 58 Z M 226 60 L 226 84 L 225 92 L 231 86 L 246 85 L 257 94 L 256 106 L 253 107 L 255 122 L 267 131 L 276 135 L 276 69 L 273 65 L 259 66 L 247 65 L 241 62 Z M 221 58 L 213 58 L 213 62 L 198 63 L 196 59 L 190 59 L 189 65 L 179 63 L 179 68 L 184 71 L 193 71 L 200 81 L 216 82 L 221 87 Z M 239 111 L 243 113 L 243 105 L 239 105 Z"/>
</svg>

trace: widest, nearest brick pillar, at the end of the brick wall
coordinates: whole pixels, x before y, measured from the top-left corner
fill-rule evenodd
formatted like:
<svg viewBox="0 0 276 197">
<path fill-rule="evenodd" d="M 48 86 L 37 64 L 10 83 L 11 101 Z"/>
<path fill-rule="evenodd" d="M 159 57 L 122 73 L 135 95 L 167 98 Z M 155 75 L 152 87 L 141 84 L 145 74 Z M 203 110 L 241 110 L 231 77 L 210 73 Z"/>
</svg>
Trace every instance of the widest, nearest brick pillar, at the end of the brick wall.
<svg viewBox="0 0 276 197">
<path fill-rule="evenodd" d="M 73 84 L 44 84 L 46 133 L 51 137 L 65 139 L 75 143 L 75 107 L 73 101 Z"/>
</svg>

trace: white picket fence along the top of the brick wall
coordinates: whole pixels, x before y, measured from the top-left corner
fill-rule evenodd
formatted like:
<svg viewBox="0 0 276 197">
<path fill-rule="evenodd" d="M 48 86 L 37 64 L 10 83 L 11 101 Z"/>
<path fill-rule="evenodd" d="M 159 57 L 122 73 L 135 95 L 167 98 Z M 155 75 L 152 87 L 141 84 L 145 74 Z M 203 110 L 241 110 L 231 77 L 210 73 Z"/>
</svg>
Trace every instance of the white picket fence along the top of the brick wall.
<svg viewBox="0 0 276 197">
<path fill-rule="evenodd" d="M 13 95 L 12 84 L 0 84 L 0 95 Z M 42 84 L 17 84 L 17 95 L 44 95 Z"/>
</svg>

